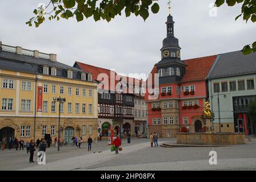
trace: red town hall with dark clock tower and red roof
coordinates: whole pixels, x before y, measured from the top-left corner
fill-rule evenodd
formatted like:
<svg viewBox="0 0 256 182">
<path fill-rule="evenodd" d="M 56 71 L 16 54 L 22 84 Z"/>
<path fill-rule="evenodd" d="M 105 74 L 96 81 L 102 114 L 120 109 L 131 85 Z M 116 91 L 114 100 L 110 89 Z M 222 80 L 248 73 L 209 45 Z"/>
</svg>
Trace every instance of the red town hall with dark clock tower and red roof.
<svg viewBox="0 0 256 182">
<path fill-rule="evenodd" d="M 145 100 L 149 133 L 175 137 L 181 130 L 202 130 L 204 123 L 201 115 L 208 97 L 206 78 L 217 56 L 181 60 L 181 48 L 174 37 L 171 15 L 167 17 L 166 25 L 162 59 L 151 71 L 153 77 L 158 74 L 153 78 L 153 81 L 158 79 L 158 85 L 150 85 L 147 81 Z"/>
</svg>

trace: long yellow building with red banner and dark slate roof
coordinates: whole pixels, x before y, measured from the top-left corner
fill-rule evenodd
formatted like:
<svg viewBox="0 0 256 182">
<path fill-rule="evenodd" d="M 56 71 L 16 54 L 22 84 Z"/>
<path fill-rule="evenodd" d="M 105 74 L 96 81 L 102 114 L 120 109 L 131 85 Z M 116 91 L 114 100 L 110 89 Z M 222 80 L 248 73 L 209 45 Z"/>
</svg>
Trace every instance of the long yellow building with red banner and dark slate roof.
<svg viewBox="0 0 256 182">
<path fill-rule="evenodd" d="M 47 136 L 54 143 L 58 128 L 69 142 L 97 138 L 98 93 L 91 74 L 59 63 L 56 55 L 28 51 L 0 44 L 0 139 Z"/>
</svg>

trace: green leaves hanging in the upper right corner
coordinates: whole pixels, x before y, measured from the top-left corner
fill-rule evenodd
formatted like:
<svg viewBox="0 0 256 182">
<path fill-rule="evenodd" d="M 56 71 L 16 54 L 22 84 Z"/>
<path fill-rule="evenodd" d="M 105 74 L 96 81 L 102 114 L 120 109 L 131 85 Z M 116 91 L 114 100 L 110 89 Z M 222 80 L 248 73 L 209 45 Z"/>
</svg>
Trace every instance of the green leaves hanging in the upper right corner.
<svg viewBox="0 0 256 182">
<path fill-rule="evenodd" d="M 215 2 L 217 7 L 222 6 L 224 3 L 225 0 L 216 0 Z M 226 0 L 226 3 L 228 6 L 235 6 L 238 3 L 243 3 L 241 7 L 241 14 L 239 14 L 235 20 L 242 16 L 246 23 L 248 20 L 251 20 L 253 23 L 256 22 L 256 0 Z M 242 52 L 244 55 L 256 52 L 256 42 L 243 47 Z"/>
</svg>

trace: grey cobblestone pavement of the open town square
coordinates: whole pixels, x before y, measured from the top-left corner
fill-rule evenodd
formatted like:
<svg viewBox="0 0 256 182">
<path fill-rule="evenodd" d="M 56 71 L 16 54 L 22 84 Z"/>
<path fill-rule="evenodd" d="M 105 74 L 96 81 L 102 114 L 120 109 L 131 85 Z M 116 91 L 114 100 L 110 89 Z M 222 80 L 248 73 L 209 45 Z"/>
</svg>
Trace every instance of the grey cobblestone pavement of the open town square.
<svg viewBox="0 0 256 182">
<path fill-rule="evenodd" d="M 160 139 L 159 143 L 166 142 L 166 140 L 175 142 L 175 138 L 168 138 Z M 86 149 L 77 150 L 74 147 L 67 147 L 58 153 L 54 148 L 54 151 L 47 151 L 46 165 L 41 166 L 37 163 L 29 164 L 27 162 L 29 156 L 26 155 L 24 164 L 17 164 L 16 167 L 14 163 L 11 163 L 14 166 L 10 167 L 9 160 L 7 158 L 2 159 L 3 154 L 0 152 L 0 169 L 85 171 L 256 169 L 256 138 L 253 138 L 252 142 L 246 142 L 246 144 L 226 147 L 149 147 L 148 139 L 133 139 L 131 143 L 133 144 L 123 143 L 123 151 L 119 155 L 110 152 L 109 146 L 103 142 L 94 144 L 94 150 L 101 150 L 100 153 L 87 152 Z M 211 150 L 217 152 L 217 165 L 209 164 L 209 152 Z M 7 154 L 9 153 L 7 152 Z M 2 161 L 5 161 L 4 167 Z"/>
</svg>

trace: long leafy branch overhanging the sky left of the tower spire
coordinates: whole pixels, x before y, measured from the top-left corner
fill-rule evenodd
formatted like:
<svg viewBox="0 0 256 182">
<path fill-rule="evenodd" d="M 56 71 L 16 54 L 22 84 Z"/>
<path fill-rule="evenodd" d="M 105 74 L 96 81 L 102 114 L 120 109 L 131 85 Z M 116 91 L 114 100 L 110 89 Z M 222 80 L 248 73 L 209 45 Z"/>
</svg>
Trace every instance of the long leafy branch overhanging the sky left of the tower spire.
<svg viewBox="0 0 256 182">
<path fill-rule="evenodd" d="M 156 14 L 159 11 L 158 0 L 50 0 L 46 7 L 38 7 L 33 13 L 36 15 L 26 24 L 39 27 L 45 21 L 45 17 L 49 20 L 60 18 L 69 19 L 76 18 L 77 22 L 81 22 L 85 18 L 93 17 L 95 22 L 98 20 L 106 20 L 110 22 L 115 16 L 122 14 L 125 10 L 126 17 L 134 14 L 141 16 L 144 20 L 149 17 L 149 12 Z M 47 11 L 50 9 L 50 12 Z"/>
</svg>

